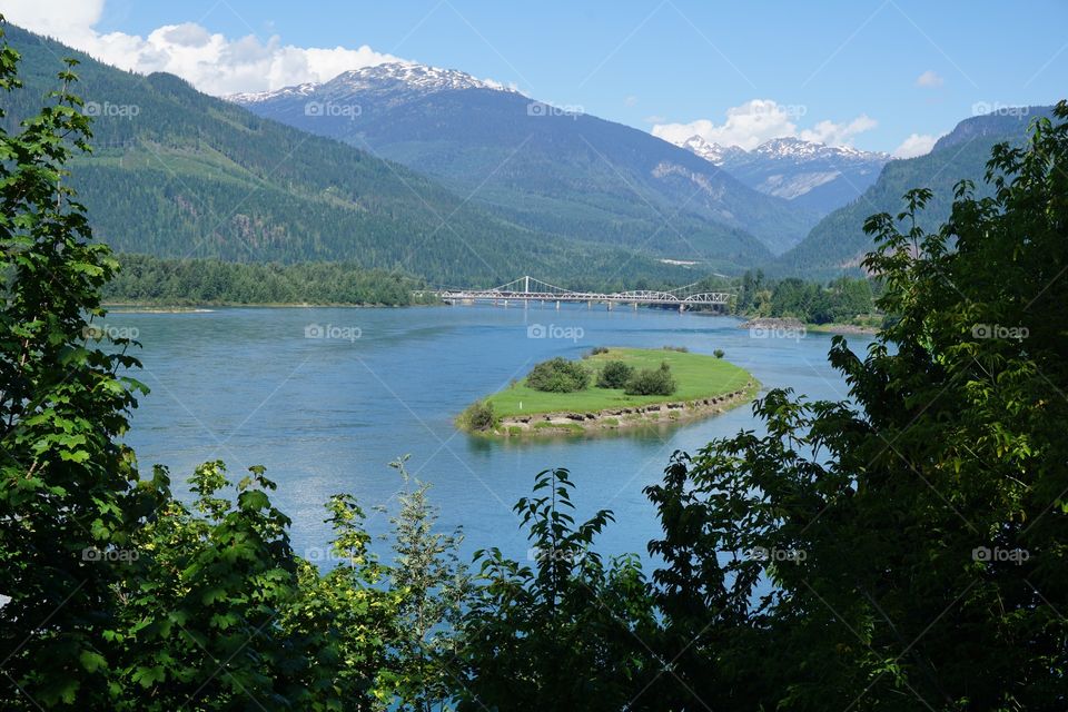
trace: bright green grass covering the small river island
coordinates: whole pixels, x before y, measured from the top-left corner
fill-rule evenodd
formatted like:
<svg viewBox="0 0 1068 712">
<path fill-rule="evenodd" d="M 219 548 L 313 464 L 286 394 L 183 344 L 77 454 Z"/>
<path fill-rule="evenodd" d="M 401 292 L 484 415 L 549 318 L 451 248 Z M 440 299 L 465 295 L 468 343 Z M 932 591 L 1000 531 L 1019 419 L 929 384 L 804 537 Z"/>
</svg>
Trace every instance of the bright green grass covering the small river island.
<svg viewBox="0 0 1068 712">
<path fill-rule="evenodd" d="M 659 368 L 661 362 L 666 360 L 679 387 L 670 396 L 629 396 L 622 389 L 597 388 L 595 385 L 577 393 L 543 393 L 528 388 L 526 379 L 523 379 L 486 399 L 493 404 L 494 413 L 498 417 L 561 411 L 590 413 L 605 408 L 708 398 L 733 393 L 752 380 L 748 372 L 721 358 L 659 348 L 612 348 L 606 354 L 590 356 L 583 359 L 583 363 L 600 370 L 609 360 L 626 362 L 635 368 Z M 594 374 L 592 383 L 595 384 L 596 380 Z"/>
</svg>

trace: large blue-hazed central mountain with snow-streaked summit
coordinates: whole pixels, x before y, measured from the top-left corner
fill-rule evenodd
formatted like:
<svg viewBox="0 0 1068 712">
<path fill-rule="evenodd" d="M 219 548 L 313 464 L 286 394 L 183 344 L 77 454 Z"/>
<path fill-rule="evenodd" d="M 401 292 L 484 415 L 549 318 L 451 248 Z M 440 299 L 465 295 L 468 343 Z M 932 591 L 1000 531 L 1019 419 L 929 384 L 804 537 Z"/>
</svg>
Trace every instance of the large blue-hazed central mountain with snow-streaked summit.
<svg viewBox="0 0 1068 712">
<path fill-rule="evenodd" d="M 438 177 L 510 221 L 570 238 L 740 263 L 763 248 L 787 249 L 818 219 L 644 131 L 455 70 L 380 65 L 230 99 Z"/>
</svg>

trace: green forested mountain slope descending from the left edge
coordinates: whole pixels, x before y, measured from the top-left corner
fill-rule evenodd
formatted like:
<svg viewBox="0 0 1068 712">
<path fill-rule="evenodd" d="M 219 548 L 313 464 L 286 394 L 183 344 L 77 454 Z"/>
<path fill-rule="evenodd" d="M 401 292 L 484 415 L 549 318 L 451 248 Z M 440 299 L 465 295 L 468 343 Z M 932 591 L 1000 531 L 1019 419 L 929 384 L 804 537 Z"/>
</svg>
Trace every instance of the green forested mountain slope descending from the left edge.
<svg viewBox="0 0 1068 712">
<path fill-rule="evenodd" d="M 259 118 L 171 75 L 121 71 L 8 24 L 26 88 L 6 92 L 14 130 L 77 57 L 76 91 L 95 113 L 95 151 L 72 181 L 99 239 L 120 251 L 239 261 L 353 259 L 492 286 L 525 271 L 582 280 L 684 279 L 633 250 L 517 226 L 403 166 Z M 739 236 L 714 267 L 767 259 Z M 739 261 L 732 263 L 732 259 Z M 624 274 L 625 268 L 625 274 Z"/>
</svg>

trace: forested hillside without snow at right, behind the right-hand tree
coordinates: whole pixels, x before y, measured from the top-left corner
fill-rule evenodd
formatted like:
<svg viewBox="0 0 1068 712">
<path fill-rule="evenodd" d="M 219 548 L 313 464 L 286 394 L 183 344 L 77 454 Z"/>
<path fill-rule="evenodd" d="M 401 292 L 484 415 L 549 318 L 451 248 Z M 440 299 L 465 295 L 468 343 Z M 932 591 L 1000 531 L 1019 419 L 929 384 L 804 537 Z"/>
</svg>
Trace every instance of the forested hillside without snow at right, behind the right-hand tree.
<svg viewBox="0 0 1068 712">
<path fill-rule="evenodd" d="M 864 220 L 878 212 L 900 212 L 901 196 L 912 188 L 934 191 L 920 225 L 937 228 L 949 217 L 953 186 L 962 178 L 976 182 L 978 195 L 990 195 L 983 181 L 990 149 L 1000 141 L 1022 142 L 1028 125 L 1039 116 L 1052 116 L 1052 107 L 1024 107 L 965 119 L 939 139 L 930 154 L 888 162 L 860 197 L 820 220 L 800 245 L 775 260 L 774 270 L 828 277 L 856 269 L 873 247 L 863 233 Z"/>
</svg>

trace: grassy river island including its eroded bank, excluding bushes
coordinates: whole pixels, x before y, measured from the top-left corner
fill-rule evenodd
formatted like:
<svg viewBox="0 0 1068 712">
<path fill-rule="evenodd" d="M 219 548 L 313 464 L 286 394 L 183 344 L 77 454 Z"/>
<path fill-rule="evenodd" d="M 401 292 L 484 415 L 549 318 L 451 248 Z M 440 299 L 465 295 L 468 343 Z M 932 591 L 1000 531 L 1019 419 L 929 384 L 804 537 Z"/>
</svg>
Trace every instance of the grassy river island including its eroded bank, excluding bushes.
<svg viewBox="0 0 1068 712">
<path fill-rule="evenodd" d="M 474 428 L 464 415 L 457 425 L 469 433 L 501 437 L 619 431 L 709 417 L 748 403 L 760 389 L 746 370 L 704 354 L 611 348 L 585 357 L 582 364 L 596 384 L 604 365 L 614 360 L 635 369 L 666 363 L 676 388 L 670 395 L 633 395 L 596 385 L 573 393 L 546 393 L 530 387 L 524 378 L 481 402 L 492 408 L 492 425 Z"/>
</svg>

